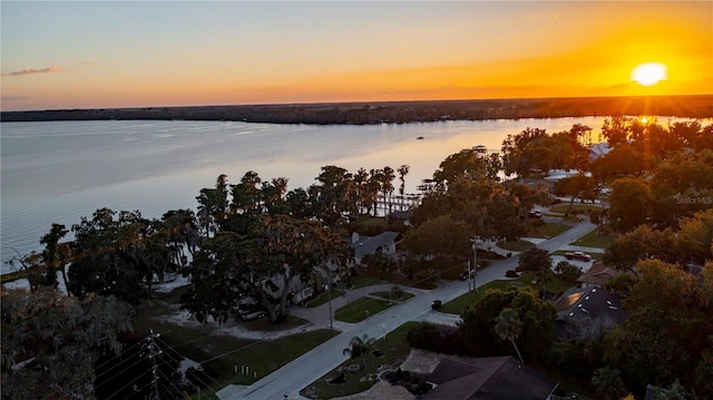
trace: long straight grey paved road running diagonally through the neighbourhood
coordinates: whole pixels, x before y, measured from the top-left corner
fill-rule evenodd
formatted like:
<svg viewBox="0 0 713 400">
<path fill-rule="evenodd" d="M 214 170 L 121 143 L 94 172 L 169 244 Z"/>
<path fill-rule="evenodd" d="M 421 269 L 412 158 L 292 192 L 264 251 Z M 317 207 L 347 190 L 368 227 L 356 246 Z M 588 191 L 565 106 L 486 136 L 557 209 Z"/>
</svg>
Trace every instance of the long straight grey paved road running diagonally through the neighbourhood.
<svg viewBox="0 0 713 400">
<path fill-rule="evenodd" d="M 555 251 L 595 228 L 596 225 L 585 221 L 558 236 L 541 242 L 538 247 Z M 477 286 L 502 279 L 507 270 L 514 270 L 516 266 L 516 256 L 492 263 L 478 273 Z M 370 338 L 383 338 L 408 321 L 428 319 L 428 315 L 424 314 L 431 311 L 433 300 L 441 300 L 446 303 L 466 292 L 468 292 L 467 282 L 439 282 L 439 287 L 387 309 L 359 324 L 349 326 L 346 331 L 318 345 L 252 386 L 228 386 L 218 391 L 217 396 L 225 400 L 281 400 L 285 394 L 290 399 L 302 399 L 299 394 L 300 390 L 348 359 L 342 354 L 342 350 L 349 347 L 349 341 L 353 336 L 367 334 Z"/>
</svg>

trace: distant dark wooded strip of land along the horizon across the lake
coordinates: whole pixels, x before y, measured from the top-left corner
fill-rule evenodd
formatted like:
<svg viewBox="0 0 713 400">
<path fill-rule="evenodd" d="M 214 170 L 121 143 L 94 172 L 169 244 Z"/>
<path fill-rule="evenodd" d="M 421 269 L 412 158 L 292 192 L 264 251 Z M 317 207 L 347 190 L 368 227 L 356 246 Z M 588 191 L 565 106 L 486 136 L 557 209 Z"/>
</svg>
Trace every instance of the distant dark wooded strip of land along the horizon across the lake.
<svg viewBox="0 0 713 400">
<path fill-rule="evenodd" d="M 713 95 L 55 109 L 1 111 L 0 121 L 225 120 L 265 124 L 379 125 L 653 115 L 713 118 Z"/>
</svg>

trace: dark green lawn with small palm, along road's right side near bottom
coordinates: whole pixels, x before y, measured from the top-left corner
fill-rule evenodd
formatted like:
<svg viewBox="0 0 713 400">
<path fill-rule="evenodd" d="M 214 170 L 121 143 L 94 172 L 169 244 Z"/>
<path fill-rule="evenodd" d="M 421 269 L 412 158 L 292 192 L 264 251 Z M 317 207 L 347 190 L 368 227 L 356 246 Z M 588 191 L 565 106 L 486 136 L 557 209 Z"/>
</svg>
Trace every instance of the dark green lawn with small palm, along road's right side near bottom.
<svg viewBox="0 0 713 400">
<path fill-rule="evenodd" d="M 406 335 L 416 326 L 418 322 L 407 322 L 403 325 L 397 328 L 393 332 L 389 333 L 384 340 L 374 342 L 374 349 L 383 353 L 383 357 L 375 358 L 371 354 L 361 359 L 349 359 L 344 361 L 340 367 L 330 371 L 324 377 L 312 382 L 300 394 L 310 398 L 332 399 L 335 397 L 349 396 L 362 392 L 371 388 L 377 383 L 379 377 L 377 372 L 381 365 L 391 365 L 392 369 L 397 369 L 409 355 L 411 347 L 406 341 Z M 345 369 L 351 364 L 360 364 L 363 362 L 364 368 L 356 373 L 352 374 Z M 329 380 L 339 377 L 340 372 L 345 370 L 344 375 L 346 378 L 345 383 L 330 384 Z M 363 382 L 360 378 L 369 377 Z"/>
</svg>

